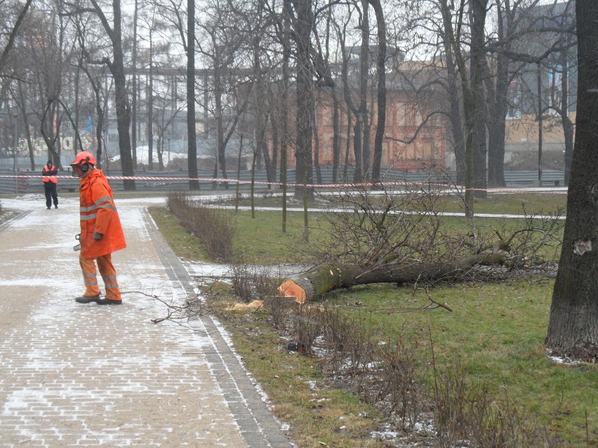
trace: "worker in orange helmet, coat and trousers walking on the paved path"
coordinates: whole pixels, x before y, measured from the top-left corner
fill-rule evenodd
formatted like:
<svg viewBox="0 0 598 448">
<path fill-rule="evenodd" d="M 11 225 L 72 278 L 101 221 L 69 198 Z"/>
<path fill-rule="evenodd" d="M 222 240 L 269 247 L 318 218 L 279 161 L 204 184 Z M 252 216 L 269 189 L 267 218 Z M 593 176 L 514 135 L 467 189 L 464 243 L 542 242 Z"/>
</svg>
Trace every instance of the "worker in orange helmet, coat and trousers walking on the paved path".
<svg viewBox="0 0 598 448">
<path fill-rule="evenodd" d="M 77 297 L 79 304 L 122 304 L 117 271 L 112 264 L 112 252 L 124 249 L 126 242 L 119 213 L 114 205 L 112 189 L 102 170 L 95 168 L 95 157 L 82 151 L 71 163 L 74 175 L 79 177 L 81 219 L 81 253 L 79 263 L 83 271 L 85 293 Z M 105 298 L 101 297 L 95 263 L 104 281 Z"/>
</svg>

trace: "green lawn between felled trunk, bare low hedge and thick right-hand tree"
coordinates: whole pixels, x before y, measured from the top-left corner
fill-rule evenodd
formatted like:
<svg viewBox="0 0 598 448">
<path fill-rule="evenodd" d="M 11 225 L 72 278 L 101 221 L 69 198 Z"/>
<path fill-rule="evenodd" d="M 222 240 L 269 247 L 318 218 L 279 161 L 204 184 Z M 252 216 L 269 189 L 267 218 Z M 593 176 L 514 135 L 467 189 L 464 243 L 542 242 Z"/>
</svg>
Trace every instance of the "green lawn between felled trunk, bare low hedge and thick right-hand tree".
<svg viewBox="0 0 598 448">
<path fill-rule="evenodd" d="M 331 299 L 381 339 L 400 334 L 418 341 L 425 360 L 432 359 L 433 346 L 440 369 L 458 366 L 472 383 L 502 400 L 507 393 L 534 421 L 571 441 L 584 440 L 587 412 L 597 441 L 597 367 L 558 364 L 543 346 L 552 287 L 552 280 L 517 280 L 430 290 L 452 312 L 404 311 L 425 306 L 425 292 L 388 285 L 337 291 Z"/>
</svg>

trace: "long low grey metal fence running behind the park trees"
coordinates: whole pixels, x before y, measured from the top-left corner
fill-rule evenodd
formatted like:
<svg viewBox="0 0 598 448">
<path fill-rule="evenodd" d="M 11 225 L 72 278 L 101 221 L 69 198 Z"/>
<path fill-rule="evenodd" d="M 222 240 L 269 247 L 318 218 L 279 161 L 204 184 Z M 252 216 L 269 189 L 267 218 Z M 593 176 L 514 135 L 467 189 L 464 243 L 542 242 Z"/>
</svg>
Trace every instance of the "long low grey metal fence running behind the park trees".
<svg viewBox="0 0 598 448">
<path fill-rule="evenodd" d="M 321 182 L 317 178 L 314 170 L 314 183 L 323 185 L 332 185 L 332 167 L 320 167 Z M 350 167 L 344 175 L 343 168 L 338 172 L 339 184 L 351 183 L 354 174 L 354 168 Z M 70 172 L 58 172 L 58 191 L 77 191 L 79 179 L 72 177 Z M 124 181 L 121 171 L 105 171 L 109 178 L 110 185 L 114 191 L 124 190 Z M 213 171 L 199 171 L 200 190 L 229 189 L 234 190 L 237 182 L 213 182 Z M 277 172 L 277 179 L 280 179 L 280 173 Z M 228 179 L 237 180 L 237 172 L 230 172 Z M 383 182 L 406 182 L 423 184 L 454 184 L 456 179 L 455 172 L 407 172 L 400 170 L 388 170 L 383 172 Z M 251 188 L 251 171 L 241 171 L 239 175 L 239 189 Z M 256 170 L 253 178 L 255 189 L 278 189 L 279 185 L 267 184 L 267 175 L 265 170 Z M 295 170 L 289 169 L 287 182 L 295 182 Z M 564 185 L 564 172 L 559 170 L 544 170 L 542 172 L 542 182 L 538 183 L 538 171 L 535 170 L 517 170 L 505 171 L 505 182 L 507 187 L 521 186 L 562 186 Z M 189 176 L 187 171 L 135 171 L 135 189 L 138 191 L 170 191 L 185 190 L 189 188 Z M 44 191 L 44 184 L 41 181 L 41 169 L 39 172 L 25 170 L 6 170 L 0 168 L 0 194 L 27 194 L 41 193 Z"/>
</svg>

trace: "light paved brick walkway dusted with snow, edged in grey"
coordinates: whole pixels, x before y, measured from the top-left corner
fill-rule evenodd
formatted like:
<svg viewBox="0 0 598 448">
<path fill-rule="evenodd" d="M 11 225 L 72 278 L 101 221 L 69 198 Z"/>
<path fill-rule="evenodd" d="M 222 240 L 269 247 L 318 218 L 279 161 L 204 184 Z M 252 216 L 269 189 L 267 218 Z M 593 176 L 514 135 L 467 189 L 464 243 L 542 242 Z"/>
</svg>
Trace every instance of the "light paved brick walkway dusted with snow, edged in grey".
<svg viewBox="0 0 598 448">
<path fill-rule="evenodd" d="M 145 211 L 163 199 L 117 198 L 122 306 L 74 302 L 78 201 L 33 199 L 1 200 L 23 215 L 0 226 L 0 447 L 292 446 L 215 319 L 151 322 L 152 295 L 194 294 Z"/>
</svg>

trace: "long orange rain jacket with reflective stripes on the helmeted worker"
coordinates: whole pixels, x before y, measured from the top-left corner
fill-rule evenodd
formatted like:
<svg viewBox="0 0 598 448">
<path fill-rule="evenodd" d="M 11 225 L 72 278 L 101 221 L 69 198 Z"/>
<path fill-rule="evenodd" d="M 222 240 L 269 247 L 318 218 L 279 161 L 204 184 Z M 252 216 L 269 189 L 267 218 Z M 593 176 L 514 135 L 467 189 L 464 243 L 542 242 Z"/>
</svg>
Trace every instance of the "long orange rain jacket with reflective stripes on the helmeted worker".
<svg viewBox="0 0 598 448">
<path fill-rule="evenodd" d="M 98 258 L 126 247 L 112 188 L 102 170 L 96 168 L 79 181 L 79 203 L 81 254 L 85 258 Z M 102 233 L 103 238 L 94 240 L 93 232 Z"/>
</svg>

